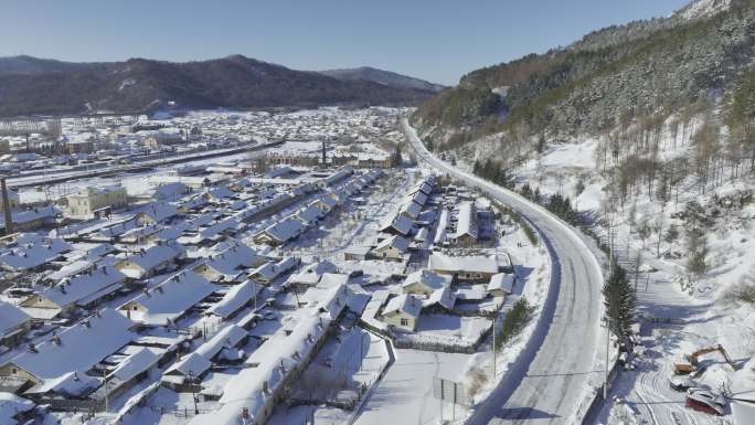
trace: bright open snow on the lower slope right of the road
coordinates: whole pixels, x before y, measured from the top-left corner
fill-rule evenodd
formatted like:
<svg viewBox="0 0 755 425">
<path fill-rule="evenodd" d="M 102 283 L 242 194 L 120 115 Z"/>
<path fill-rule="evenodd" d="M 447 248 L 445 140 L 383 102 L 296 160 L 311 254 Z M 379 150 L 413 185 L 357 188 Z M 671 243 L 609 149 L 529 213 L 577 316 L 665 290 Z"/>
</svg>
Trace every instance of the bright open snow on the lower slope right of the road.
<svg viewBox="0 0 755 425">
<path fill-rule="evenodd" d="M 677 136 L 674 140 L 669 131 L 664 131 L 658 158 L 691 157 L 694 147 L 689 136 L 693 131 L 694 123 L 685 139 Z M 586 139 L 547 146 L 540 158 L 530 159 L 514 170 L 517 182 L 527 182 L 543 194 L 560 192 L 568 195 L 578 210 L 607 219 L 604 206 L 608 181 L 596 160 L 598 145 L 598 140 Z M 719 419 L 685 408 L 684 394 L 669 389 L 668 380 L 676 360 L 717 344 L 727 350 L 741 370 L 734 372 L 717 353 L 710 353 L 702 358 L 708 369 L 700 383 L 716 391 L 723 389 L 755 399 L 753 373 L 742 370 L 755 353 L 755 309 L 753 305 L 727 298 L 735 285 L 753 285 L 755 281 L 755 205 L 748 202 L 741 208 L 729 208 L 725 202 L 719 202 L 725 196 L 746 198 L 755 188 L 755 179 L 749 176 L 733 180 L 730 171 L 725 171 L 720 184 L 709 184 L 702 194 L 693 172 L 690 174 L 679 184 L 678 199 L 672 192 L 671 199 L 663 204 L 640 188 L 634 201 L 610 216 L 613 223 L 620 223 L 613 227 L 614 246 L 625 268 L 635 272 L 640 257 L 639 273 L 636 276 L 631 273 L 630 278 L 632 281 L 637 278 L 638 312 L 644 317 L 640 323 L 642 336 L 647 338 L 645 355 L 634 362 L 634 371 L 620 374 L 613 392 L 617 402 L 600 413 L 598 419 L 602 423 L 732 423 L 731 415 Z M 584 189 L 577 192 L 578 187 Z M 705 256 L 708 270 L 699 278 L 692 277 L 687 268 L 685 222 L 677 215 L 690 201 L 699 202 L 708 213 L 720 211 L 704 232 L 709 249 Z M 607 241 L 606 229 L 600 224 L 595 231 Z M 642 225 L 649 227 L 645 241 L 638 232 Z M 679 232 L 673 241 L 667 240 L 670 225 Z M 671 322 L 664 322 L 667 320 Z"/>
</svg>

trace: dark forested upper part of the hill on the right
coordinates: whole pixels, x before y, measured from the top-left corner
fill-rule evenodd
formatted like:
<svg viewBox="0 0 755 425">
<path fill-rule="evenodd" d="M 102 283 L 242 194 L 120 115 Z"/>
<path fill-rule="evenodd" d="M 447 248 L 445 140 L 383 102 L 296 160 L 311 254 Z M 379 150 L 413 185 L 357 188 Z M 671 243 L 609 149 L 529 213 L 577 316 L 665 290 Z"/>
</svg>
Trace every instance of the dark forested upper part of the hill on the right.
<svg viewBox="0 0 755 425">
<path fill-rule="evenodd" d="M 755 117 L 755 0 L 699 0 L 669 18 L 610 26 L 545 54 L 474 71 L 412 116 L 436 148 L 486 135 L 534 144 L 714 114 Z"/>
</svg>

